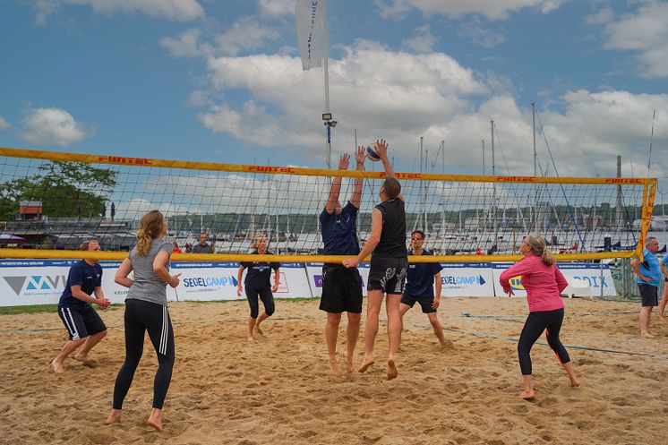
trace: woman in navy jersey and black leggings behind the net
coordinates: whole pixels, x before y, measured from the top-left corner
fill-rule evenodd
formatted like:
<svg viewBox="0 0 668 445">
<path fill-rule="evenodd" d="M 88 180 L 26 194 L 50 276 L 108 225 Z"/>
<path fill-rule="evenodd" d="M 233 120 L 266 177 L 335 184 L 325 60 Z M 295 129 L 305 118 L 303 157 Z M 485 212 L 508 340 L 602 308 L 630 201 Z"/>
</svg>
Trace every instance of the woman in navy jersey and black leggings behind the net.
<svg viewBox="0 0 668 445">
<path fill-rule="evenodd" d="M 271 255 L 267 252 L 267 238 L 264 235 L 255 235 L 253 247 L 255 255 Z M 241 296 L 242 286 L 241 278 L 244 275 L 244 270 L 247 269 L 244 286 L 246 287 L 246 299 L 248 305 L 251 307 L 251 316 L 248 317 L 248 341 L 253 341 L 253 331 L 257 331 L 262 335 L 260 323 L 270 318 L 276 310 L 274 305 L 273 292 L 278 290 L 280 284 L 280 271 L 278 262 L 267 261 L 243 261 L 239 264 L 239 271 L 237 272 L 238 287 L 236 288 L 236 295 Z M 271 270 L 274 270 L 274 285 L 270 285 Z M 258 297 L 262 300 L 264 311 L 260 312 L 260 302 Z"/>
</svg>

